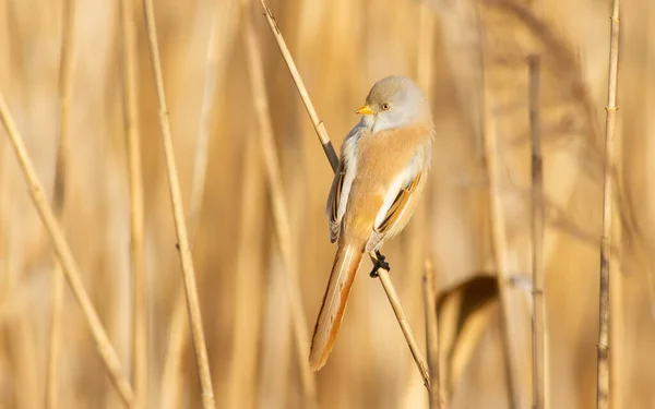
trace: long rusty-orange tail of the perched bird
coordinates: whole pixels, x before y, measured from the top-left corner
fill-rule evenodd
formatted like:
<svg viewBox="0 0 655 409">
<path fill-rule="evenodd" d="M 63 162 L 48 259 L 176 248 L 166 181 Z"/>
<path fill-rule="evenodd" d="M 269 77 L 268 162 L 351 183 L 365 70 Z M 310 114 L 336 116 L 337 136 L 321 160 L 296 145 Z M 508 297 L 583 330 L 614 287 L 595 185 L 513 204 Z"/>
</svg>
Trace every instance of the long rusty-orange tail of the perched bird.
<svg viewBox="0 0 655 409">
<path fill-rule="evenodd" d="M 312 371 L 323 368 L 334 346 L 350 294 L 350 287 L 353 287 L 355 274 L 359 269 L 364 255 L 362 251 L 358 249 L 361 246 L 340 245 L 336 251 L 330 281 L 311 339 L 309 365 Z"/>
</svg>

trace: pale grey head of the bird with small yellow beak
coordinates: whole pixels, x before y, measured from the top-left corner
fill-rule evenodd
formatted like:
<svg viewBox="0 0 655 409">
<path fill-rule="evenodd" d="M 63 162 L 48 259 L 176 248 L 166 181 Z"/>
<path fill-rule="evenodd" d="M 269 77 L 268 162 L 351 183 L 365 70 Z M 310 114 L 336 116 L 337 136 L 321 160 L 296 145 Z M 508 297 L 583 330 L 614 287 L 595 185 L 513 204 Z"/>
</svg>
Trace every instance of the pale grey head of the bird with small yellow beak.
<svg viewBox="0 0 655 409">
<path fill-rule="evenodd" d="M 406 76 L 391 75 L 378 81 L 356 113 L 373 132 L 431 123 L 430 107 L 422 91 Z"/>
</svg>

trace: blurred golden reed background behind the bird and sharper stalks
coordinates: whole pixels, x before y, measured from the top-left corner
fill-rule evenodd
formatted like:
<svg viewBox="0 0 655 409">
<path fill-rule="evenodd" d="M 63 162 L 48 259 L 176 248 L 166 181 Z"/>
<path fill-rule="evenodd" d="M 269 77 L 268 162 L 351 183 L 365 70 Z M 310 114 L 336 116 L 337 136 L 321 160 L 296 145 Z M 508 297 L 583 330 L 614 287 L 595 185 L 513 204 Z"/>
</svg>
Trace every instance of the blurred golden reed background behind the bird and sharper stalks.
<svg viewBox="0 0 655 409">
<path fill-rule="evenodd" d="M 146 365 L 147 407 L 198 408 L 202 397 L 143 7 L 134 0 L 147 360 L 132 353 L 132 328 L 139 327 L 132 286 L 139 281 L 130 262 L 120 2 L 68 1 L 75 7 L 68 136 L 60 159 L 66 160 L 61 226 L 124 375 L 134 377 L 132 368 Z M 335 250 L 324 216 L 329 161 L 259 2 L 250 10 L 237 0 L 157 0 L 154 5 L 216 407 L 306 408 L 245 22 L 252 23 L 262 50 L 290 254 L 310 329 Z M 384 253 L 424 350 L 425 257 L 434 264 L 441 376 L 450 408 L 509 408 L 508 372 L 519 387 L 515 407 L 531 406 L 526 58 L 540 56 L 548 407 L 594 407 L 610 2 L 272 0 L 269 5 L 335 147 L 358 120 L 353 112 L 374 81 L 405 74 L 429 91 L 437 122 L 430 190 Z M 62 1 L 0 1 L 0 89 L 50 201 L 60 140 L 63 10 Z M 614 169 L 620 239 L 614 242 L 611 273 L 615 409 L 655 408 L 655 191 L 648 189 L 655 183 L 654 23 L 652 0 L 623 2 Z M 495 216 L 486 170 L 488 132 L 496 135 L 500 167 L 491 192 L 501 204 Z M 0 407 L 38 408 L 46 401 L 56 270 L 4 129 L 0 135 Z M 500 246 L 491 228 L 499 216 Z M 495 256 L 495 248 L 502 254 Z M 510 279 L 510 371 L 503 359 L 498 265 Z M 319 406 L 427 407 L 386 297 L 365 269 L 334 352 L 315 375 Z M 51 375 L 57 405 L 49 407 L 120 407 L 68 286 L 62 309 L 59 363 Z"/>
</svg>

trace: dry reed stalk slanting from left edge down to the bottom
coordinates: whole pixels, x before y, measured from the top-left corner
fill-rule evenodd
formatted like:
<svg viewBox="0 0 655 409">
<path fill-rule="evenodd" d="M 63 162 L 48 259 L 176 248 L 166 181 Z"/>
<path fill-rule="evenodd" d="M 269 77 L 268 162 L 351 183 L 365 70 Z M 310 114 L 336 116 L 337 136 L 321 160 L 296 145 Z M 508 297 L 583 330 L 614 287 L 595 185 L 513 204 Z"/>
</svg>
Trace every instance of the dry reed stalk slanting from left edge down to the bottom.
<svg viewBox="0 0 655 409">
<path fill-rule="evenodd" d="M 52 240 L 52 244 L 57 252 L 57 256 L 59 257 L 62 270 L 67 280 L 69 281 L 69 286 L 71 287 L 73 296 L 80 303 L 80 308 L 82 309 L 82 313 L 86 318 L 91 334 L 96 342 L 98 353 L 100 354 L 105 369 L 107 370 L 107 374 L 116 386 L 116 389 L 118 390 L 126 406 L 129 408 L 134 408 L 135 400 L 132 387 L 121 373 L 122 368 L 118 356 L 116 354 L 116 350 L 109 342 L 109 338 L 107 337 L 107 333 L 100 323 L 98 314 L 95 311 L 88 294 L 84 290 L 80 268 L 78 267 L 68 242 L 61 232 L 52 208 L 48 205 L 43 184 L 38 180 L 36 170 L 32 164 L 32 159 L 27 154 L 25 144 L 23 143 L 23 140 L 19 133 L 15 121 L 9 111 L 9 107 L 7 106 L 7 101 L 4 99 L 4 94 L 2 93 L 0 93 L 0 119 L 7 129 L 9 140 L 19 160 L 21 170 L 23 171 L 23 176 L 25 177 L 25 182 L 29 188 L 32 201 L 34 202 L 34 205 L 48 231 L 48 234 L 50 236 L 50 239 Z"/>
</svg>

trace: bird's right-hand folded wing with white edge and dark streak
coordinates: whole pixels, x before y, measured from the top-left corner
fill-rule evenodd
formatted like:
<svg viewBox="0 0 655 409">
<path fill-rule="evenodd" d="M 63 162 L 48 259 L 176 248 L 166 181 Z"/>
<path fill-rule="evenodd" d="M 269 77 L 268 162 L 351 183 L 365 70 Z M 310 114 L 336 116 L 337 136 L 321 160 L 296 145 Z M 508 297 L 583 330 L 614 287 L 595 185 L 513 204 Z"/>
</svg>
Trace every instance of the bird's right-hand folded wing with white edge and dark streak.
<svg viewBox="0 0 655 409">
<path fill-rule="evenodd" d="M 416 202 L 422 192 L 422 178 L 424 172 L 418 172 L 407 185 L 401 189 L 380 225 L 373 229 L 373 233 L 366 246 L 367 251 L 374 250 L 382 240 L 400 233 L 407 221 L 409 221 L 409 218 L 414 214 Z"/>
</svg>

